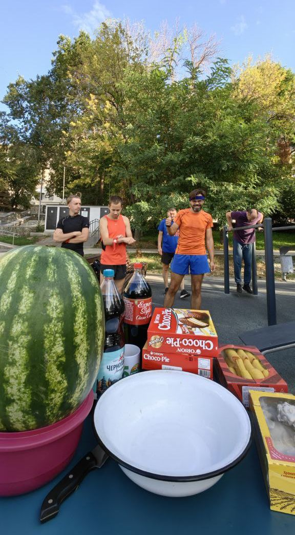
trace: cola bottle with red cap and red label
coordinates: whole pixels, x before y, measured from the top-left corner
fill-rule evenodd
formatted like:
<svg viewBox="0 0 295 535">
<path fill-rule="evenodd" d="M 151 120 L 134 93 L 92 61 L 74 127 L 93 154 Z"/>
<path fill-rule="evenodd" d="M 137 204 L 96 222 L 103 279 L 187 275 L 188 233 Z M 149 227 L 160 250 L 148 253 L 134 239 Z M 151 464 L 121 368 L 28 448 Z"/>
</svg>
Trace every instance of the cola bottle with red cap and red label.
<svg viewBox="0 0 295 535">
<path fill-rule="evenodd" d="M 125 340 L 142 347 L 152 317 L 152 288 L 142 275 L 142 264 L 134 264 L 134 274 L 123 292 L 125 303 Z"/>
</svg>

